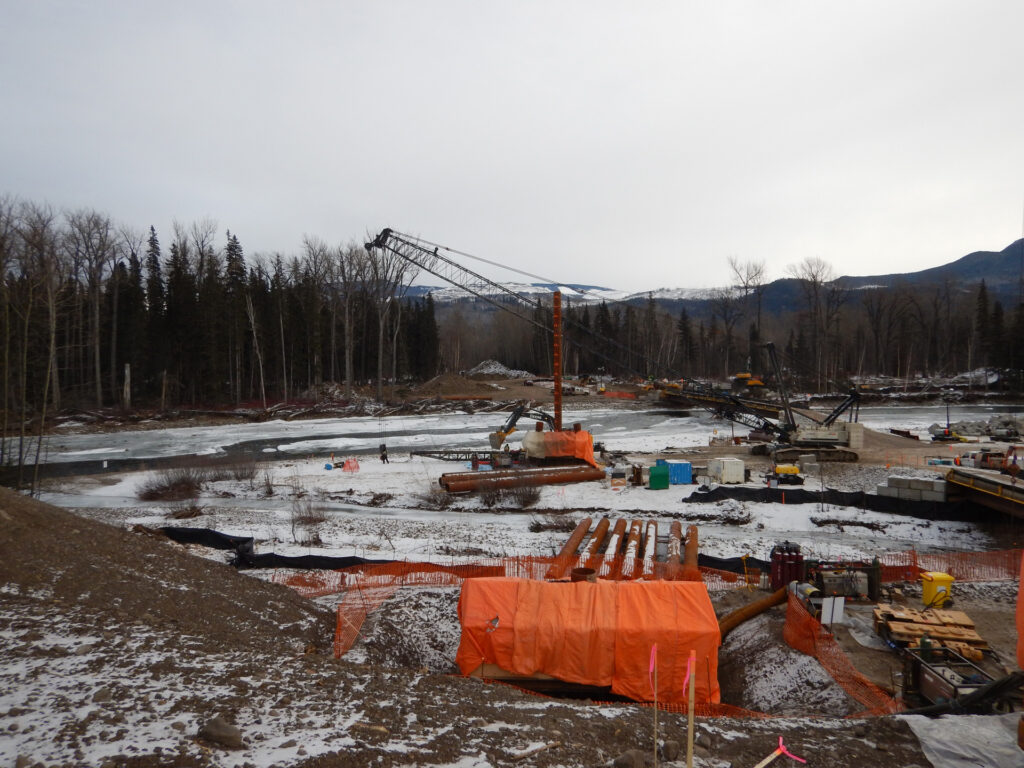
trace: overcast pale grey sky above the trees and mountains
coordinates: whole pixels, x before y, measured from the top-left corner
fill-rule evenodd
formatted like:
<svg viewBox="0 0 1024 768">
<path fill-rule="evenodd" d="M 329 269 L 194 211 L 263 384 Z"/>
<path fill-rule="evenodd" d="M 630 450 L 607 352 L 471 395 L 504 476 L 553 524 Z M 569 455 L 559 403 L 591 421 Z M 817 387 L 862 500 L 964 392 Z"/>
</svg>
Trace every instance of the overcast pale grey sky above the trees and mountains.
<svg viewBox="0 0 1024 768">
<path fill-rule="evenodd" d="M 729 256 L 873 274 L 1021 237 L 1019 0 L 0 10 L 0 193 L 164 242 L 173 219 L 248 254 L 391 226 L 646 290 L 724 285 Z"/>
</svg>

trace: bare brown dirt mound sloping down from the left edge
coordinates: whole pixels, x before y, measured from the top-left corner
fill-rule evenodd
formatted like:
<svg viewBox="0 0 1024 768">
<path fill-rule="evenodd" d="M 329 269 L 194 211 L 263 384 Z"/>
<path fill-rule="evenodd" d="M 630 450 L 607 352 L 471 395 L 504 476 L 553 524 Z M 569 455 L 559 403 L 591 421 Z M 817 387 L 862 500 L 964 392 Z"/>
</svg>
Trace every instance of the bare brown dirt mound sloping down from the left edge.
<svg viewBox="0 0 1024 768">
<path fill-rule="evenodd" d="M 0 582 L 57 605 L 173 627 L 211 647 L 330 644 L 333 616 L 290 589 L 194 557 L 163 536 L 76 517 L 0 487 Z"/>
</svg>

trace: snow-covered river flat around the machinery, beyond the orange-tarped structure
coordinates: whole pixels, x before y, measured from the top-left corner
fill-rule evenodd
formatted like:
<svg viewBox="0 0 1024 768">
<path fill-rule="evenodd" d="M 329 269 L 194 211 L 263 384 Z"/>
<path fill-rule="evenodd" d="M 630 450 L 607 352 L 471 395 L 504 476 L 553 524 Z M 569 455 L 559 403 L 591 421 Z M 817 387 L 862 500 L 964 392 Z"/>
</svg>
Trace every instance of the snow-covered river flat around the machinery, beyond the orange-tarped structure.
<svg viewBox="0 0 1024 768">
<path fill-rule="evenodd" d="M 899 426 L 922 430 L 936 420 L 940 410 L 944 418 L 944 408 L 863 409 L 861 418 L 879 429 Z M 972 417 L 982 413 L 975 408 L 958 411 L 963 413 L 957 417 L 966 417 L 967 412 Z M 708 415 L 679 416 L 662 410 L 591 409 L 570 412 L 567 420 L 583 421 L 609 449 L 633 454 L 669 446 L 707 446 L 716 431 L 729 434 L 726 430 L 731 430 L 727 422 Z M 560 548 L 566 535 L 531 532 L 530 522 L 538 513 L 528 509 L 514 510 L 502 504 L 488 509 L 475 496 L 459 498 L 439 509 L 438 477 L 464 467 L 408 453 L 421 447 L 482 449 L 487 432 L 500 421 L 495 414 L 387 421 L 383 429 L 378 427 L 377 419 L 331 419 L 67 435 L 51 439 L 48 456 L 50 461 L 71 460 L 83 452 L 91 452 L 90 457 L 96 458 L 103 456 L 97 453 L 100 451 L 109 452 L 111 457 L 137 459 L 189 453 L 242 456 L 241 446 L 260 444 L 262 447 L 250 457 L 265 463 L 259 465 L 252 480 L 209 483 L 196 501 L 202 513 L 179 523 L 251 536 L 259 552 L 467 560 L 553 554 Z M 359 453 L 376 454 L 382 434 L 387 435 L 389 464 L 381 464 L 375 455 Z M 326 469 L 328 464 L 340 466 L 348 457 L 359 462 L 357 472 Z M 879 472 L 884 474 L 883 470 Z M 159 471 L 52 480 L 42 499 L 119 524 L 175 524 L 168 517 L 182 506 L 180 502 L 143 503 L 137 499 L 139 487 L 155 474 Z M 754 478 L 755 482 L 759 479 Z M 872 490 L 877 481 L 879 477 L 865 479 L 864 489 Z M 806 487 L 814 488 L 818 483 L 812 479 Z M 771 547 L 781 540 L 801 544 L 808 556 L 830 558 L 863 557 L 910 547 L 977 550 L 989 545 L 985 534 L 969 523 L 929 522 L 819 504 L 684 504 L 682 499 L 693 490 L 694 486 L 613 489 L 607 482 L 549 486 L 541 489 L 534 508 L 564 511 L 574 518 L 644 517 L 666 526 L 671 519 L 689 519 L 699 525 L 701 551 L 727 557 L 767 557 Z M 293 526 L 293 517 L 301 513 L 303 505 L 323 513 L 325 519 L 314 526 L 314 531 L 297 531 Z M 815 522 L 824 519 L 842 521 L 842 529 L 835 522 Z M 308 543 L 310 540 L 314 543 Z"/>
</svg>

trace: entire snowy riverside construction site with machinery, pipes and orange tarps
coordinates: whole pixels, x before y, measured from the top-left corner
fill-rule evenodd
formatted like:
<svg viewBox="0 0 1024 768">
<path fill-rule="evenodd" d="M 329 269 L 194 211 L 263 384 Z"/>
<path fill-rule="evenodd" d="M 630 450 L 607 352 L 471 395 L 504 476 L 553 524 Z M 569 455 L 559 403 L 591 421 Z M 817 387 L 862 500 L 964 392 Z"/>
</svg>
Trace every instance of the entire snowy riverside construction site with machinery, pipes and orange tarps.
<svg viewBox="0 0 1024 768">
<path fill-rule="evenodd" d="M 0 756 L 1020 765 L 1006 420 L 797 408 L 772 345 L 771 391 L 567 381 L 559 307 L 550 378 L 450 377 L 258 441 L 55 436 L 42 502 L 2 492 Z"/>
</svg>

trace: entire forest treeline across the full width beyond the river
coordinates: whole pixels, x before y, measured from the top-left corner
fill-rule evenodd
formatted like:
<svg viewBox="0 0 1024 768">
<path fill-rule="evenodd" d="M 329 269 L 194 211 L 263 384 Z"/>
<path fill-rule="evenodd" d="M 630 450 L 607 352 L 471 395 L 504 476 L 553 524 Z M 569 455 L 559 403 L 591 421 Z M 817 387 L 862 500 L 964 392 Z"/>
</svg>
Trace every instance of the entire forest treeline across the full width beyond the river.
<svg viewBox="0 0 1024 768">
<path fill-rule="evenodd" d="M 1024 311 L 983 281 L 851 291 L 830 265 L 790 268 L 798 311 L 762 311 L 763 263 L 730 259 L 734 285 L 669 315 L 639 304 L 568 304 L 568 373 L 725 378 L 767 373 L 763 342 L 808 391 L 853 375 L 948 374 L 1024 364 Z M 108 215 L 0 199 L 3 434 L 68 407 L 257 403 L 314 396 L 327 382 L 424 380 L 497 358 L 551 369 L 550 311 L 409 299 L 418 268 L 354 244 L 303 240 L 298 255 L 246 256 L 215 223 L 165 239 Z M 520 307 L 520 313 L 522 312 Z M 24 440 L 23 440 L 24 441 Z M 0 464 L 24 455 L 0 445 Z"/>
</svg>

